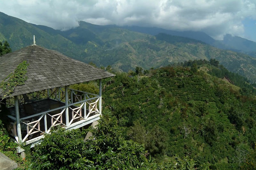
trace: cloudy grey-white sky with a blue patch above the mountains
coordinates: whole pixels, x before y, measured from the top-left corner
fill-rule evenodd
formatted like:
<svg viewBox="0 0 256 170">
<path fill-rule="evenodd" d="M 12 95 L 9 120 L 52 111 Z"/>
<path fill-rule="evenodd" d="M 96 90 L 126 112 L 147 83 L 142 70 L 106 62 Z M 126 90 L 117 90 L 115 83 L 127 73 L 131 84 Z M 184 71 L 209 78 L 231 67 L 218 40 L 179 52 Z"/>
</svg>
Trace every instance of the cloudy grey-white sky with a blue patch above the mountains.
<svg viewBox="0 0 256 170">
<path fill-rule="evenodd" d="M 83 20 L 203 31 L 214 39 L 229 33 L 256 41 L 256 0 L 0 0 L 0 11 L 60 30 Z"/>
</svg>

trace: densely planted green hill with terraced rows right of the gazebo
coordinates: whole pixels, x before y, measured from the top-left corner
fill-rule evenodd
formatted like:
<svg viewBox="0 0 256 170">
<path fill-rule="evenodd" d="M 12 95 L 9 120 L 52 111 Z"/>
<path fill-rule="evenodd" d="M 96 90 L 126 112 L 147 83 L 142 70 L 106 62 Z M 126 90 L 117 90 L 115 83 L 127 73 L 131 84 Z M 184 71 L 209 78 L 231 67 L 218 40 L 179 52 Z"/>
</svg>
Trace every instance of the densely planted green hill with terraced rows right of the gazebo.
<svg viewBox="0 0 256 170">
<path fill-rule="evenodd" d="M 126 138 L 145 144 L 158 161 L 177 154 L 212 169 L 243 165 L 238 155 L 248 157 L 256 141 L 253 88 L 242 95 L 239 87 L 190 67 L 150 72 L 120 73 L 103 85 L 104 109 L 126 127 Z"/>
</svg>

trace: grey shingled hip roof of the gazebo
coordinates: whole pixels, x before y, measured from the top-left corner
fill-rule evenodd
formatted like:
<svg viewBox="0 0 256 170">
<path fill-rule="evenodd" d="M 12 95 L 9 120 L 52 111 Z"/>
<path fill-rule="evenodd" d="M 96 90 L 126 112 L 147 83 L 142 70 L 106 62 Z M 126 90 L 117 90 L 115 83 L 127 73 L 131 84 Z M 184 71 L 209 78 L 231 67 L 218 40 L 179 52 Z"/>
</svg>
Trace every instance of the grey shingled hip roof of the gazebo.
<svg viewBox="0 0 256 170">
<path fill-rule="evenodd" d="M 28 79 L 14 89 L 12 96 L 115 76 L 59 52 L 32 45 L 0 57 L 0 82 L 23 61 L 29 63 Z"/>
</svg>

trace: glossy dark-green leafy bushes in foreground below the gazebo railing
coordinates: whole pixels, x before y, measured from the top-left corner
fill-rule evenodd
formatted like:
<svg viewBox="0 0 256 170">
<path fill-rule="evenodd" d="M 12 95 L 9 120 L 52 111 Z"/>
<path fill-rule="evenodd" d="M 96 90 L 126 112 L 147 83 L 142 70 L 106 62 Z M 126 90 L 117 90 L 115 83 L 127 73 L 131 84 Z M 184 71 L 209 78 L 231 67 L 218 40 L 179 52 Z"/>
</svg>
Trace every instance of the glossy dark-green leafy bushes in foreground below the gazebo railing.
<svg viewBox="0 0 256 170">
<path fill-rule="evenodd" d="M 134 169 L 147 164 L 143 145 L 124 140 L 116 118 L 104 115 L 88 130 L 54 128 L 33 151 L 31 169 Z"/>
</svg>

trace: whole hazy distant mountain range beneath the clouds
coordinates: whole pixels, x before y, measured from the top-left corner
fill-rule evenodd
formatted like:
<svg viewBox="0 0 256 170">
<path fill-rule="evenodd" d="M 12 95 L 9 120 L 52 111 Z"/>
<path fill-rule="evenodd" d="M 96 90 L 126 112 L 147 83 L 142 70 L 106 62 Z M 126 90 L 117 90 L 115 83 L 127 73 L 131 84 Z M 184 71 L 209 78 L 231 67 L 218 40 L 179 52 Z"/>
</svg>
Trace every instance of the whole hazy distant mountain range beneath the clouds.
<svg viewBox="0 0 256 170">
<path fill-rule="evenodd" d="M 74 29 L 60 31 L 0 12 L 0 41 L 7 40 L 13 51 L 31 45 L 33 35 L 39 46 L 97 66 L 111 65 L 116 70 L 128 71 L 137 66 L 149 69 L 215 58 L 230 71 L 256 82 L 256 43 L 241 37 L 226 35 L 222 41 L 216 41 L 204 32 L 102 26 L 84 21 Z"/>
</svg>

